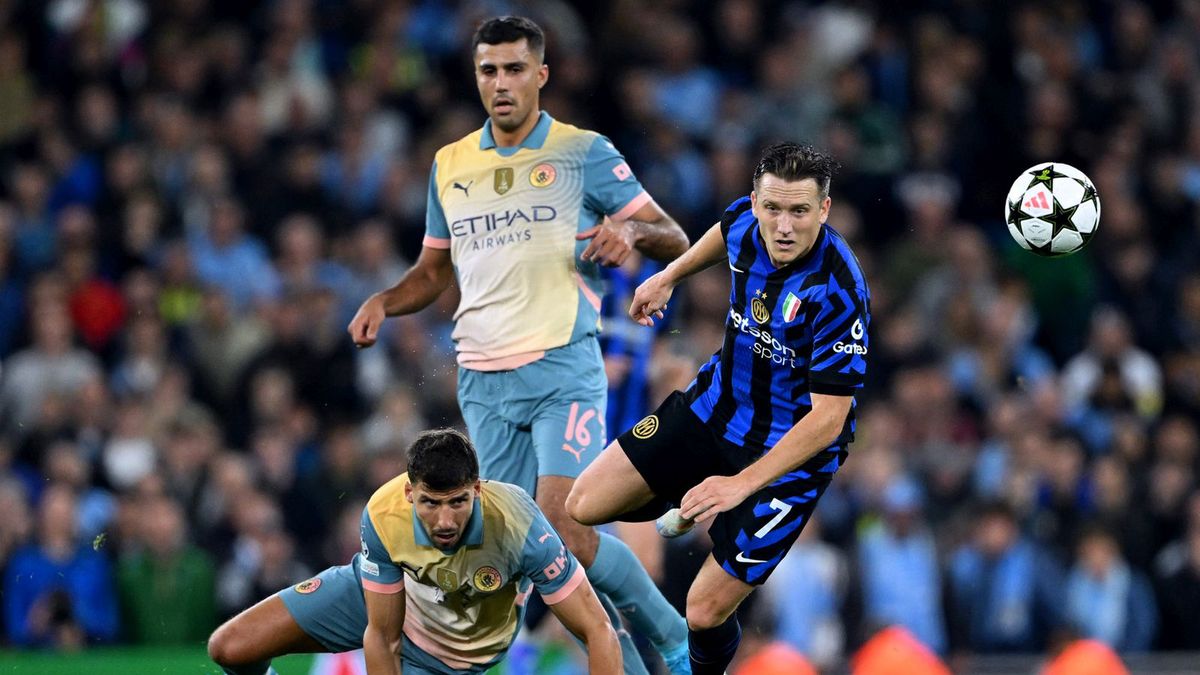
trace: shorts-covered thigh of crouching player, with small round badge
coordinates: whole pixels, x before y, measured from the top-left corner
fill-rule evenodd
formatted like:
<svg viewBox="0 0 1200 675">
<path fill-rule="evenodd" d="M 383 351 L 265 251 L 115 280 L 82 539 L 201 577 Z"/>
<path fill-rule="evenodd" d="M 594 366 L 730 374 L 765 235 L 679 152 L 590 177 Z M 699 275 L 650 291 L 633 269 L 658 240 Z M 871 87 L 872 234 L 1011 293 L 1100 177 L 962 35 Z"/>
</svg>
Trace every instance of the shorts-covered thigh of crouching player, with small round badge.
<svg viewBox="0 0 1200 675">
<path fill-rule="evenodd" d="M 342 652 L 362 646 L 367 609 L 353 565 L 330 567 L 280 591 L 278 596 L 296 625 L 324 646 L 322 651 Z"/>
</svg>

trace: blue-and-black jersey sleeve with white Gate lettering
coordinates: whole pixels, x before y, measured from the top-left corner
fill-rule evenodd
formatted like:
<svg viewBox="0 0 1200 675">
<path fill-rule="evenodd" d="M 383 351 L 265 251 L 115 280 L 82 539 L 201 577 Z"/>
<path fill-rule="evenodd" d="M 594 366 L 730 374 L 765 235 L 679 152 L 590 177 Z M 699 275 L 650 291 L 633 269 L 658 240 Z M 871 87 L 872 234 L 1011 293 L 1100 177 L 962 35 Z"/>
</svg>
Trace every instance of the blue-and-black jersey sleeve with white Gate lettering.
<svg viewBox="0 0 1200 675">
<path fill-rule="evenodd" d="M 866 377 L 870 301 L 858 288 L 830 286 L 812 321 L 809 383 L 814 394 L 850 396 Z"/>
</svg>

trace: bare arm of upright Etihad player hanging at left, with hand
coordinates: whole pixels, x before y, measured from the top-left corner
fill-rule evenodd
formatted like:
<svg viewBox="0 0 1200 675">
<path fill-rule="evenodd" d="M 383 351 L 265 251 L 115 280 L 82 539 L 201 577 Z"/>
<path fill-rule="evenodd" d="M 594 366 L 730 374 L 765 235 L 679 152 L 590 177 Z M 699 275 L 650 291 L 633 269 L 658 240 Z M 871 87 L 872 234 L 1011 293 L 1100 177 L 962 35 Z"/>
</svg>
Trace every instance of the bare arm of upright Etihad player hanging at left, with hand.
<svg viewBox="0 0 1200 675">
<path fill-rule="evenodd" d="M 449 249 L 421 249 L 416 264 L 400 281 L 362 303 L 347 330 L 359 347 L 374 345 L 383 319 L 430 306 L 454 280 Z"/>
</svg>

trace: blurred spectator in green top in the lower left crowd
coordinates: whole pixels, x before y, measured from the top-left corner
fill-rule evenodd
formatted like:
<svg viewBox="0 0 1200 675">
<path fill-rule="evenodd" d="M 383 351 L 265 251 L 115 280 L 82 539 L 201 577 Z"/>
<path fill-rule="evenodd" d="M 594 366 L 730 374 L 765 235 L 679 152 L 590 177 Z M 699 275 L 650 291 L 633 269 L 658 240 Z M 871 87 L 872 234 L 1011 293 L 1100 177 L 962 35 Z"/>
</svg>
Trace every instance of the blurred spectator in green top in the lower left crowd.
<svg viewBox="0 0 1200 675">
<path fill-rule="evenodd" d="M 134 644 L 204 641 L 216 627 L 215 572 L 187 542 L 184 510 L 170 498 L 138 504 L 139 549 L 116 569 L 126 638 Z"/>
</svg>

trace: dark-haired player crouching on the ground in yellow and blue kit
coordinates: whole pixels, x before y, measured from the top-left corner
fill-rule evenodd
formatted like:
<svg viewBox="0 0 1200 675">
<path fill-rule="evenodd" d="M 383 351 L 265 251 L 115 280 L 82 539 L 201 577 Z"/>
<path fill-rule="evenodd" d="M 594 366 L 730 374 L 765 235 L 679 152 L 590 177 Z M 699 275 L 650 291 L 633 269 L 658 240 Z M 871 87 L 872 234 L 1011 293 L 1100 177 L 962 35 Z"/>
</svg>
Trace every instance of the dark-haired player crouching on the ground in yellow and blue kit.
<svg viewBox="0 0 1200 675">
<path fill-rule="evenodd" d="M 620 671 L 617 635 L 575 556 L 515 485 L 480 482 L 470 441 L 426 431 L 408 473 L 362 509 L 362 552 L 230 619 L 209 640 L 228 675 L 286 653 L 361 647 L 370 675 L 482 673 L 536 589 L 583 640 L 588 671 Z"/>
</svg>

